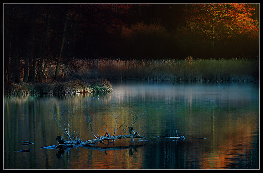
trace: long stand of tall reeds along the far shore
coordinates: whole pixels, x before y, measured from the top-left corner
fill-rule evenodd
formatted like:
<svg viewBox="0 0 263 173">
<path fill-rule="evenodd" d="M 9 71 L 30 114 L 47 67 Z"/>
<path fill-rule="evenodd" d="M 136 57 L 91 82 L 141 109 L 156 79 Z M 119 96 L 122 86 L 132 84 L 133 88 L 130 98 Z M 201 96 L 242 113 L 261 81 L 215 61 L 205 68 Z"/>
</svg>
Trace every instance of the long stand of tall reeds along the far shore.
<svg viewBox="0 0 263 173">
<path fill-rule="evenodd" d="M 248 59 L 90 61 L 94 76 L 104 79 L 254 81 L 253 61 Z"/>
</svg>

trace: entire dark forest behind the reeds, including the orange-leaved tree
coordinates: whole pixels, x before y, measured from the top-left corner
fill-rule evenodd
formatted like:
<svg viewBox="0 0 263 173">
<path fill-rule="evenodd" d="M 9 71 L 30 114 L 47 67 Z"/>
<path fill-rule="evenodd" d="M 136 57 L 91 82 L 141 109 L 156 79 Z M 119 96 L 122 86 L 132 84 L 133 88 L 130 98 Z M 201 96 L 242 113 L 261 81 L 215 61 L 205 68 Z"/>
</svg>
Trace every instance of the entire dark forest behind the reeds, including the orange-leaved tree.
<svg viewBox="0 0 263 173">
<path fill-rule="evenodd" d="M 259 4 L 3 4 L 4 85 L 71 78 L 94 60 L 187 57 L 259 69 Z"/>
</svg>

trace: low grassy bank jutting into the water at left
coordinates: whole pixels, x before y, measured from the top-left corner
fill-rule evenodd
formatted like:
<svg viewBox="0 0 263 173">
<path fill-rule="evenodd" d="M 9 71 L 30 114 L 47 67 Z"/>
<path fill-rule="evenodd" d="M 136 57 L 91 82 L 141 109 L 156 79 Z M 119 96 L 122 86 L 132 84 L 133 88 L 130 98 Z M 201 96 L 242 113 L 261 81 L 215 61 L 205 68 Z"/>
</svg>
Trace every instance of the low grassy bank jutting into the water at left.
<svg viewBox="0 0 263 173">
<path fill-rule="evenodd" d="M 74 94 L 74 93 L 109 93 L 111 83 L 106 79 L 82 81 L 79 79 L 55 83 L 12 83 L 4 86 L 4 95 L 26 94 Z"/>
</svg>

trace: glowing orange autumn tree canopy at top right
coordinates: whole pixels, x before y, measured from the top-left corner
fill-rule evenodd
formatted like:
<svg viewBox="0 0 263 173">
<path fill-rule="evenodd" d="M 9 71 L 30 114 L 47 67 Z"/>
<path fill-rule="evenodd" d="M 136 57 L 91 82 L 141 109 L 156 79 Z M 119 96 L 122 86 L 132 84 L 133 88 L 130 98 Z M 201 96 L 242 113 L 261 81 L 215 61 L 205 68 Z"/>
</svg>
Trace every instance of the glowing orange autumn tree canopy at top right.
<svg viewBox="0 0 263 173">
<path fill-rule="evenodd" d="M 212 46 L 215 40 L 228 41 L 244 35 L 258 38 L 253 11 L 255 8 L 248 4 L 190 4 L 185 9 L 185 32 L 200 35 Z"/>
</svg>

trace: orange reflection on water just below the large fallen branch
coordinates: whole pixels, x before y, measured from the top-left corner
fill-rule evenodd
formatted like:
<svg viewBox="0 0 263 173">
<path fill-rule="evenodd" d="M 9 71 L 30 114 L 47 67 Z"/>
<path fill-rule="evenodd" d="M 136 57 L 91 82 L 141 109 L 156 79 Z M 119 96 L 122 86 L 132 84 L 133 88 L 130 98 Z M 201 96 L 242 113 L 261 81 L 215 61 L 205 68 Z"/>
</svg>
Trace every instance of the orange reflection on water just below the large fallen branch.
<svg viewBox="0 0 263 173">
<path fill-rule="evenodd" d="M 69 169 L 141 169 L 143 155 L 135 148 L 89 150 L 81 148 L 70 158 Z M 71 152 L 71 151 L 70 151 Z M 86 161 L 83 161 L 86 160 Z"/>
</svg>

